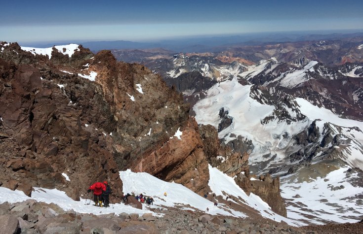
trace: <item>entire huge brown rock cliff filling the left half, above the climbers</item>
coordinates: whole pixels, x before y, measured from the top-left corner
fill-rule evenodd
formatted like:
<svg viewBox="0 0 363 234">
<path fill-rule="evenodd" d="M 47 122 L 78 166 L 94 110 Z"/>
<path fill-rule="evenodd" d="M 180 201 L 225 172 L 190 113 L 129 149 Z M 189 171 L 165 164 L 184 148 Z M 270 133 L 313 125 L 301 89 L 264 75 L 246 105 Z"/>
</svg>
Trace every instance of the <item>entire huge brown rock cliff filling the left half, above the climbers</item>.
<svg viewBox="0 0 363 234">
<path fill-rule="evenodd" d="M 58 188 L 79 199 L 91 183 L 108 180 L 113 196 L 121 197 L 118 171 L 132 168 L 195 192 L 206 189 L 198 126 L 160 76 L 117 62 L 110 51 L 93 55 L 80 46 L 69 57 L 53 48 L 49 60 L 16 43 L 3 48 L 2 186 L 28 195 L 31 186 Z M 78 76 L 91 72 L 94 82 Z"/>
</svg>

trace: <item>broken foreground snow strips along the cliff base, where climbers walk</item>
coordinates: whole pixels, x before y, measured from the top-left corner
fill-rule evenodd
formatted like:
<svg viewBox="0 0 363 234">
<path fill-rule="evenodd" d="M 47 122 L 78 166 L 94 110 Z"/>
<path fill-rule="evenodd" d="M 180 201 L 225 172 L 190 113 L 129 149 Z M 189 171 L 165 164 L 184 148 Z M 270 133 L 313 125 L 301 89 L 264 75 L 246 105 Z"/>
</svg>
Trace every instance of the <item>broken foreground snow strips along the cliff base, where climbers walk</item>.
<svg viewBox="0 0 363 234">
<path fill-rule="evenodd" d="M 221 195 L 224 197 L 227 195 L 233 195 L 234 197 L 239 198 L 240 201 L 232 202 L 242 202 L 243 204 L 249 205 L 264 217 L 274 219 L 276 221 L 283 220 L 293 226 L 301 225 L 299 222 L 295 222 L 274 213 L 268 204 L 262 201 L 258 196 L 252 193 L 247 196 L 235 183 L 233 178 L 222 173 L 218 169 L 209 166 L 209 173 L 210 180 L 208 185 L 210 186 L 212 193 L 215 193 L 216 196 Z M 84 199 L 81 199 L 81 201 L 73 201 L 71 198 L 67 197 L 65 192 L 57 189 L 44 188 L 34 188 L 35 191 L 32 192 L 32 199 L 46 203 L 53 202 L 58 204 L 64 210 L 73 209 L 80 213 L 105 214 L 114 212 L 116 214 L 120 214 L 122 212 L 126 212 L 142 215 L 143 213 L 150 213 L 151 211 L 149 208 L 178 207 L 181 209 L 200 210 L 212 215 L 235 216 L 241 218 L 246 217 L 246 214 L 241 211 L 234 210 L 225 204 L 218 204 L 218 206 L 215 206 L 212 201 L 199 196 L 181 184 L 165 182 L 145 172 L 135 173 L 128 169 L 126 171 L 120 171 L 120 176 L 123 181 L 123 193 L 142 193 L 145 196 L 151 196 L 154 199 L 154 205 L 144 204 L 142 210 L 133 208 L 129 205 L 124 205 L 123 203 L 116 203 L 112 204 L 110 207 L 101 208 L 91 205 L 93 201 L 89 202 L 89 198 L 87 201 Z M 167 193 L 167 196 L 163 195 L 164 192 Z M 3 187 L 0 187 L 0 196 L 2 201 L 8 202 L 25 201 L 29 199 L 29 197 L 21 191 L 11 191 Z M 206 208 L 208 208 L 209 211 L 206 211 Z M 154 212 L 152 213 L 154 215 L 161 215 Z"/>
</svg>

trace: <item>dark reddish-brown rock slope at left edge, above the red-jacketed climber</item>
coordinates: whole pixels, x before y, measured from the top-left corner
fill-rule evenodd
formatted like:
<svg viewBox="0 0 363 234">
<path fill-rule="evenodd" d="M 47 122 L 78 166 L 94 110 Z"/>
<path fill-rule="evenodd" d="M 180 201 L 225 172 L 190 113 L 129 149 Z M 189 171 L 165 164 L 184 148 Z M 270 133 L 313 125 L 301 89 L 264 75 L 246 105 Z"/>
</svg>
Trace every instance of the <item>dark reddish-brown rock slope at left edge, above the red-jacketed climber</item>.
<svg viewBox="0 0 363 234">
<path fill-rule="evenodd" d="M 35 67 L 0 64 L 0 132 L 11 136 L 0 139 L 2 186 L 27 195 L 31 186 L 58 188 L 78 200 L 94 181 L 113 178 L 115 194 L 121 194 L 112 145 L 100 147 L 104 135 L 84 130 L 81 112 L 68 105 L 64 91 L 42 82 Z"/>
</svg>

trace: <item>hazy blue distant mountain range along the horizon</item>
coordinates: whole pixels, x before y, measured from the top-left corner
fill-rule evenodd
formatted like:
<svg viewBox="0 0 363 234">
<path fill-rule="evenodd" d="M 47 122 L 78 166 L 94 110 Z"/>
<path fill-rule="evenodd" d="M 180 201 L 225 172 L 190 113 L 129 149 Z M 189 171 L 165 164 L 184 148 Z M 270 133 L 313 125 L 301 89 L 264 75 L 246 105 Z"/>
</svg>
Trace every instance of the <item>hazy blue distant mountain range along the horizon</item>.
<svg viewBox="0 0 363 234">
<path fill-rule="evenodd" d="M 91 51 L 103 49 L 150 49 L 164 48 L 175 52 L 212 52 L 219 51 L 226 46 L 232 45 L 261 45 L 271 42 L 296 42 L 310 40 L 327 40 L 353 38 L 363 36 L 363 32 L 340 31 L 331 32 L 278 32 L 278 33 L 246 33 L 242 35 L 226 36 L 203 36 L 190 38 L 175 38 L 159 41 L 134 42 L 126 40 L 116 41 L 62 41 L 54 43 L 23 43 L 24 46 L 46 48 L 53 45 L 63 45 L 67 43 L 81 44 Z M 220 48 L 222 47 L 222 48 Z"/>
</svg>

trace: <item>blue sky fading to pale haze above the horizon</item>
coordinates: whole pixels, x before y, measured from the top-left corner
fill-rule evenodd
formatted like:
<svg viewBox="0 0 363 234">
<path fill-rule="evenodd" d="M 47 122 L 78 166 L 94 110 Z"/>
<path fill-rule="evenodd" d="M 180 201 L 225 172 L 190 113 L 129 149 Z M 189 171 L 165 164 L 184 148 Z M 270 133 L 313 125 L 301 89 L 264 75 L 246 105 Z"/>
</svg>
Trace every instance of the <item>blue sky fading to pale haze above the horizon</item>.
<svg viewBox="0 0 363 234">
<path fill-rule="evenodd" d="M 0 40 L 133 40 L 363 29 L 362 0 L 7 0 Z"/>
</svg>

